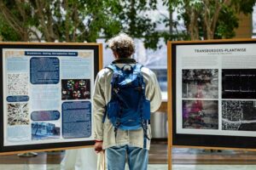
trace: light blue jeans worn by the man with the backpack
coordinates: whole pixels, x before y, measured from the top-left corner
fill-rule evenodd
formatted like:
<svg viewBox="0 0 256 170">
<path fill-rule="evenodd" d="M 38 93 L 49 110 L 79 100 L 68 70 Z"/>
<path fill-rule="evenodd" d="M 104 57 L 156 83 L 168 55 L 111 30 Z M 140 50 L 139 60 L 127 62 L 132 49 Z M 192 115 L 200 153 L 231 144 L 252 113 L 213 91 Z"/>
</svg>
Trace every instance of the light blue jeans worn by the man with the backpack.
<svg viewBox="0 0 256 170">
<path fill-rule="evenodd" d="M 148 150 L 126 144 L 107 149 L 108 170 L 125 170 L 126 157 L 130 170 L 148 169 Z"/>
</svg>

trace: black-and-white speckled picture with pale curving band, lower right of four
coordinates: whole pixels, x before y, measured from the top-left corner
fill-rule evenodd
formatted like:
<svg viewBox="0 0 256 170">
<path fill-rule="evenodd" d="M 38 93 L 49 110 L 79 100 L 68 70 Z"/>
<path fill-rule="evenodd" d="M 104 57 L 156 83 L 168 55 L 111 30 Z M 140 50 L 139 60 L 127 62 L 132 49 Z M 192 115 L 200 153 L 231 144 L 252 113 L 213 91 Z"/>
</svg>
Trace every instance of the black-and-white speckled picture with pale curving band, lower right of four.
<svg viewBox="0 0 256 170">
<path fill-rule="evenodd" d="M 256 101 L 222 101 L 222 129 L 256 131 Z"/>
</svg>

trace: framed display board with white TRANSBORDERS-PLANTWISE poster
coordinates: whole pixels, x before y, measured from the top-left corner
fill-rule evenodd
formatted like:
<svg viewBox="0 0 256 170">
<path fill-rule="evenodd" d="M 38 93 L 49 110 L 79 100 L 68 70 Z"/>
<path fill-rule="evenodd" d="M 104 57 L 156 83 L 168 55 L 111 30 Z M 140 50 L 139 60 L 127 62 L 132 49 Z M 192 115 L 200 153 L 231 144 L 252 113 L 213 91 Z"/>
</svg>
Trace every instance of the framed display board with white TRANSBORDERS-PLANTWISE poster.
<svg viewBox="0 0 256 170">
<path fill-rule="evenodd" d="M 169 42 L 168 48 L 172 144 L 256 149 L 256 41 Z"/>
</svg>

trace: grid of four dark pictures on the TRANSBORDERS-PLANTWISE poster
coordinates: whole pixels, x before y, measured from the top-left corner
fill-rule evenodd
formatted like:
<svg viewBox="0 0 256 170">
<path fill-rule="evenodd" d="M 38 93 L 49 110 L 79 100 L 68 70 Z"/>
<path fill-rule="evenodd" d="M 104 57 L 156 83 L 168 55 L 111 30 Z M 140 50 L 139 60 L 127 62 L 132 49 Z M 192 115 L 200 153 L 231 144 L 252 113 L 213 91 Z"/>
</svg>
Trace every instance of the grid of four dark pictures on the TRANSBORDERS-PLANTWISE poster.
<svg viewBox="0 0 256 170">
<path fill-rule="evenodd" d="M 190 69 L 182 73 L 183 128 L 256 131 L 256 69 L 221 70 L 221 88 L 218 69 Z"/>
</svg>

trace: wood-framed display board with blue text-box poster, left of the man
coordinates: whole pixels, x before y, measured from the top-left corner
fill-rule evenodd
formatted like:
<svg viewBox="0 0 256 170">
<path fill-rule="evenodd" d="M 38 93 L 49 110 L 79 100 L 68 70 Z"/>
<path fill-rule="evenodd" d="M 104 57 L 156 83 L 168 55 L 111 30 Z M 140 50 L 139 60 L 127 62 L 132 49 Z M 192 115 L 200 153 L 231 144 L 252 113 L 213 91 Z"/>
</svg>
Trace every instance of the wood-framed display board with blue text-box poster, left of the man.
<svg viewBox="0 0 256 170">
<path fill-rule="evenodd" d="M 102 44 L 0 42 L 0 54 L 1 155 L 94 144 Z"/>
</svg>

